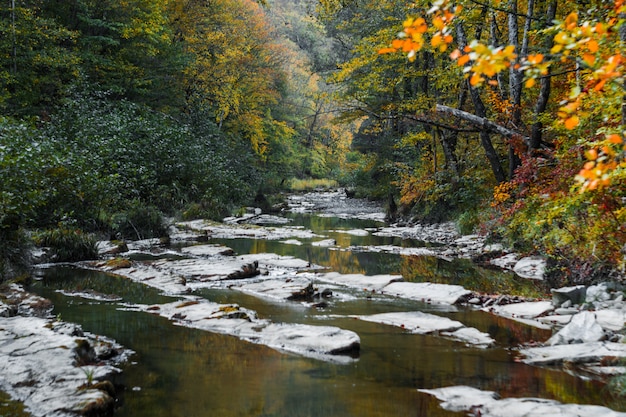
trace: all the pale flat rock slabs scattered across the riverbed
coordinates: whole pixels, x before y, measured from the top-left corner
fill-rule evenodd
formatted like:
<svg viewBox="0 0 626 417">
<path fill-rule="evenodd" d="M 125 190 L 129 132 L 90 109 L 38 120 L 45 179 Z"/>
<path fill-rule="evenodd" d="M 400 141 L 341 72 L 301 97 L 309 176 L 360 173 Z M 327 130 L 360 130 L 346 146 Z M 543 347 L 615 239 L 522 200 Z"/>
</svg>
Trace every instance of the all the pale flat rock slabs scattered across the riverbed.
<svg viewBox="0 0 626 417">
<path fill-rule="evenodd" d="M 377 205 L 348 199 L 341 191 L 292 197 L 288 210 L 338 218 L 382 220 L 384 217 Z M 127 303 L 124 308 L 129 311 L 159 315 L 180 326 L 226 334 L 321 361 L 344 364 L 357 361 L 359 335 L 337 326 L 259 318 L 254 310 L 245 306 L 214 303 L 196 294 L 206 289 L 230 289 L 262 299 L 324 308 L 328 303 L 351 297 L 351 291 L 362 291 L 369 294 L 368 297 L 395 297 L 437 306 L 439 311 L 482 310 L 552 330 L 552 336 L 546 340 L 513 347 L 519 361 L 530 366 L 567 366 L 568 372 L 581 378 L 626 373 L 622 366 L 626 357 L 626 307 L 623 288 L 616 284 L 559 288 L 553 290 L 552 297 L 527 299 L 471 291 L 460 285 L 408 282 L 401 275 L 342 274 L 297 257 L 273 253 L 237 254 L 228 246 L 206 243 L 209 239 L 245 238 L 284 245 L 310 244 L 336 252 L 428 255 L 443 260 L 488 254 L 493 266 L 515 271 L 526 279 L 541 280 L 545 270 L 541 258 L 520 257 L 500 246 L 487 245 L 480 236 L 459 236 L 452 224 L 384 226 L 381 223 L 380 227 L 342 230 L 341 233 L 415 239 L 434 245 L 346 247 L 329 236 L 291 226 L 289 218 L 251 210 L 245 216 L 227 218 L 219 224 L 204 220 L 174 223 L 170 228 L 169 246 L 159 240 L 125 242 L 124 245 L 101 242 L 102 259 L 79 266 L 123 276 L 178 299 L 150 305 Z M 7 295 L 0 300 L 0 356 L 7 360 L 0 360 L 4 366 L 0 390 L 23 401 L 32 415 L 85 414 L 92 408 L 110 411 L 114 404 L 114 387 L 104 381 L 117 372 L 115 365 L 128 360 L 131 352 L 112 340 L 85 334 L 79 326 L 51 317 L 49 303 L 31 298 L 17 286 L 7 286 L 5 292 Z M 98 296 L 89 291 L 66 295 Z M 433 313 L 400 311 L 346 315 L 346 318 L 450 339 L 475 349 L 490 349 L 497 344 L 488 333 Z M 42 363 L 55 366 L 38 365 Z M 444 408 L 482 410 L 482 415 L 504 415 L 494 411 L 504 409 L 504 405 L 509 410 L 514 409 L 508 412 L 510 416 L 526 415 L 530 406 L 520 407 L 520 402 L 536 403 L 537 407 L 544 407 L 541 410 L 551 410 L 550 415 L 626 415 L 597 406 L 572 411 L 571 405 L 552 401 L 496 400 L 493 393 L 480 392 L 476 397 L 476 392 L 469 387 L 441 387 L 427 393 L 439 398 Z M 484 401 L 466 407 L 471 401 L 463 398 L 472 396 Z"/>
</svg>

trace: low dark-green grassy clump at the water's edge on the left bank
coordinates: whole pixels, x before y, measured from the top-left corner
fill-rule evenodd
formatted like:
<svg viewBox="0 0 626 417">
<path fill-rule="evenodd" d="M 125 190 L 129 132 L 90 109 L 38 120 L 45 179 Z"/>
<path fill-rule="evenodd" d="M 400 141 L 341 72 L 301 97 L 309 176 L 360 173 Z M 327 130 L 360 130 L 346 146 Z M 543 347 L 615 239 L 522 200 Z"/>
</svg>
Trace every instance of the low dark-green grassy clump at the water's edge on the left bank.
<svg viewBox="0 0 626 417">
<path fill-rule="evenodd" d="M 94 235 L 80 229 L 60 225 L 46 230 L 35 238 L 35 243 L 49 249 L 51 261 L 76 262 L 98 258 L 98 242 Z"/>
</svg>

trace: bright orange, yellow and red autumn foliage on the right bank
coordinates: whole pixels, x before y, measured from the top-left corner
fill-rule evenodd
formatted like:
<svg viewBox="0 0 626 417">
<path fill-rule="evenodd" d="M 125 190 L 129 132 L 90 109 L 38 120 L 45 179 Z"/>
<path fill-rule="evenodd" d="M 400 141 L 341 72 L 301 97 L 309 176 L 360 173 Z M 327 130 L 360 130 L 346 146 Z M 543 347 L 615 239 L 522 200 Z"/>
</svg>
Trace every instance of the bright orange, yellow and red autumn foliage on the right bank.
<svg viewBox="0 0 626 417">
<path fill-rule="evenodd" d="M 424 53 L 453 61 L 470 89 L 486 91 L 492 104 L 505 103 L 493 114 L 495 123 L 510 126 L 516 120 L 513 136 L 522 138 L 530 129 L 520 123 L 533 123 L 533 132 L 535 127 L 543 131 L 536 148 L 510 145 L 519 158 L 517 169 L 494 187 L 496 220 L 487 221 L 492 233 L 509 236 L 518 245 L 526 242 L 526 249 L 569 264 L 571 279 L 584 269 L 581 262 L 624 268 L 626 6 L 623 0 L 591 2 L 586 10 L 562 5 L 553 21 L 544 27 L 535 23 L 533 29 L 532 5 L 529 2 L 526 10 L 518 10 L 516 1 L 483 5 L 482 16 L 491 8 L 492 28 L 498 15 L 508 15 L 507 44 L 493 37 L 465 39 L 465 25 L 475 19 L 476 5 L 437 0 L 406 18 L 397 38 L 378 52 L 401 52 L 409 62 Z M 510 36 L 519 20 L 525 21 L 521 44 L 517 40 L 522 35 Z M 449 48 L 446 57 L 443 52 Z M 506 88 L 503 79 L 516 74 L 525 98 L 519 104 L 494 98 Z M 510 84 L 510 97 L 514 90 Z M 529 118 L 532 113 L 517 106 L 524 105 L 523 100 L 529 105 L 537 94 L 544 101 L 543 107 L 536 107 L 542 113 Z M 405 189 L 420 183 L 417 178 L 402 182 Z M 579 267 L 572 267 L 576 262 Z"/>
</svg>

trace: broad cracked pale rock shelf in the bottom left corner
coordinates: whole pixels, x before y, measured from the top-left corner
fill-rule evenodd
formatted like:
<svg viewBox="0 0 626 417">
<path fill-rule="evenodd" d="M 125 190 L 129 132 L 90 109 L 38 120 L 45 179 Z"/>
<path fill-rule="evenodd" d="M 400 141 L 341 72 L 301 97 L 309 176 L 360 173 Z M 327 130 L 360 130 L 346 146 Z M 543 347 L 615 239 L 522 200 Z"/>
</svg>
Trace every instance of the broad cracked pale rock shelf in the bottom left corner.
<svg viewBox="0 0 626 417">
<path fill-rule="evenodd" d="M 126 360 L 130 351 L 116 362 L 77 366 L 79 344 L 114 342 L 82 331 L 73 335 L 68 329 L 67 323 L 38 317 L 0 319 L 0 390 L 23 402 L 33 416 L 76 416 L 89 407 L 101 407 L 102 413 L 113 410 L 114 400 L 107 392 L 84 388 L 88 375 L 97 382 L 119 373 L 114 365 Z"/>
</svg>

